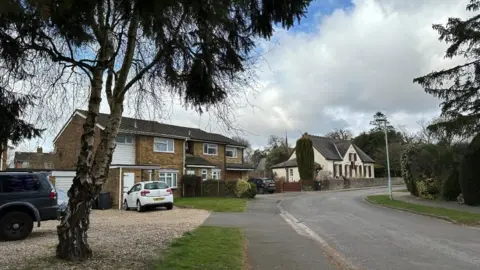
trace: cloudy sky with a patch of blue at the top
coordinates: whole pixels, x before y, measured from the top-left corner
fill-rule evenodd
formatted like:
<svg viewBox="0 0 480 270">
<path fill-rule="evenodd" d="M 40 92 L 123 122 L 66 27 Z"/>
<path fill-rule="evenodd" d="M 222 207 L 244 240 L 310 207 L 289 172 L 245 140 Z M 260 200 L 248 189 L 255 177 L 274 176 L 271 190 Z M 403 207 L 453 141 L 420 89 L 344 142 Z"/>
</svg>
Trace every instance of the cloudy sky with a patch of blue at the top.
<svg viewBox="0 0 480 270">
<path fill-rule="evenodd" d="M 313 1 L 300 25 L 279 28 L 270 41 L 259 44 L 269 49 L 259 62 L 256 89 L 246 91 L 243 103 L 233 109 L 240 131 L 225 130 L 214 116 L 185 110 L 173 99 L 167 102 L 168 113 L 156 120 L 239 135 L 254 148 L 265 146 L 270 135 L 287 134 L 294 142 L 304 132 L 324 135 L 336 128 L 359 134 L 371 128 L 377 111 L 392 125 L 414 132 L 419 120 L 439 115 L 440 100 L 413 84 L 413 78 L 461 62 L 444 59 L 447 45 L 438 41 L 432 24 L 471 16 L 465 11 L 468 2 Z M 101 111 L 108 112 L 105 103 Z M 126 110 L 124 115 L 134 113 Z M 53 150 L 62 124 L 52 124 L 42 139 L 19 149 Z"/>
</svg>

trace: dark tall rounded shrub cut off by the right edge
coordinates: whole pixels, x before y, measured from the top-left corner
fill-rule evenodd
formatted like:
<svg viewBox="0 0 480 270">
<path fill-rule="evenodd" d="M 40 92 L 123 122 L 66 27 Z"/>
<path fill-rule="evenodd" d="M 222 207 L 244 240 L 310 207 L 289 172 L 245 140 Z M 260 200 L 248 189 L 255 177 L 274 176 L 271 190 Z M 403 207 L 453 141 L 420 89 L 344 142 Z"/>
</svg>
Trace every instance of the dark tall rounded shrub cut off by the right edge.
<svg viewBox="0 0 480 270">
<path fill-rule="evenodd" d="M 460 188 L 467 205 L 480 205 L 480 135 L 475 136 L 460 163 Z"/>
</svg>

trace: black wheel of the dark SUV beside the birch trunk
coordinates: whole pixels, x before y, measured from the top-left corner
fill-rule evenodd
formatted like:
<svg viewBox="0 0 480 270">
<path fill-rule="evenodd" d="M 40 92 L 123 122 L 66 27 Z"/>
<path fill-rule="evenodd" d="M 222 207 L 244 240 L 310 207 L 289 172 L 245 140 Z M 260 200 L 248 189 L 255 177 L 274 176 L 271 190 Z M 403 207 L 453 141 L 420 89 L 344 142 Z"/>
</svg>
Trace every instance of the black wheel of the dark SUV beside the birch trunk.
<svg viewBox="0 0 480 270">
<path fill-rule="evenodd" d="M 33 219 L 25 212 L 10 212 L 0 220 L 0 237 L 7 241 L 27 238 L 33 230 Z"/>
</svg>

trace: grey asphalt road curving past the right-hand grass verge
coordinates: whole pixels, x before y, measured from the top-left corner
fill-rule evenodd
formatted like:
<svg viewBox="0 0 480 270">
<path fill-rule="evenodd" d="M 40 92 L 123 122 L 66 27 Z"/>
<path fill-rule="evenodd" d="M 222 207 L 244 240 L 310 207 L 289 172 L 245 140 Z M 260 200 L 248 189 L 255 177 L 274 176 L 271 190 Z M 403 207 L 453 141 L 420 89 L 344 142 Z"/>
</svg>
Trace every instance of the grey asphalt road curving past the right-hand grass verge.
<svg viewBox="0 0 480 270">
<path fill-rule="evenodd" d="M 283 208 L 361 269 L 480 269 L 480 229 L 371 205 L 386 189 L 325 192 Z"/>
</svg>

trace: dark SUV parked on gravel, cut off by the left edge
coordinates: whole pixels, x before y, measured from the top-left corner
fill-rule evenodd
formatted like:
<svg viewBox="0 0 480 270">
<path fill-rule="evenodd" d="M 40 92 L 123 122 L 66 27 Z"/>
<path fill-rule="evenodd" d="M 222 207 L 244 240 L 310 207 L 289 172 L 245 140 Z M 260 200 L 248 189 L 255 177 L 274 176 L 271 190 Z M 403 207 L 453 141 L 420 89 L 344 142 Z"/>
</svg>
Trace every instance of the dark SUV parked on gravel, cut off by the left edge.
<svg viewBox="0 0 480 270">
<path fill-rule="evenodd" d="M 57 219 L 57 193 L 42 173 L 0 172 L 0 239 L 28 237 L 34 222 Z"/>
</svg>

